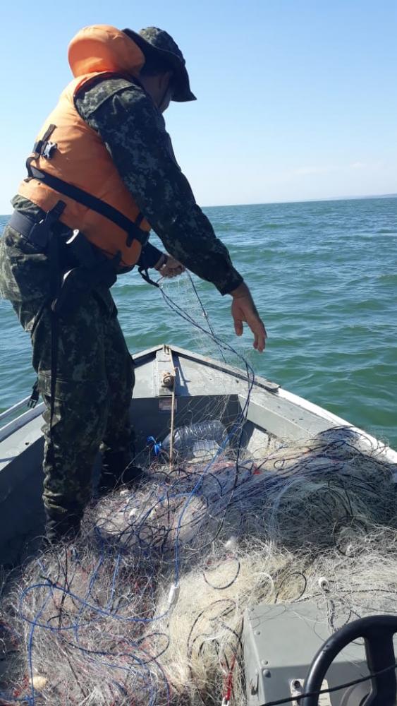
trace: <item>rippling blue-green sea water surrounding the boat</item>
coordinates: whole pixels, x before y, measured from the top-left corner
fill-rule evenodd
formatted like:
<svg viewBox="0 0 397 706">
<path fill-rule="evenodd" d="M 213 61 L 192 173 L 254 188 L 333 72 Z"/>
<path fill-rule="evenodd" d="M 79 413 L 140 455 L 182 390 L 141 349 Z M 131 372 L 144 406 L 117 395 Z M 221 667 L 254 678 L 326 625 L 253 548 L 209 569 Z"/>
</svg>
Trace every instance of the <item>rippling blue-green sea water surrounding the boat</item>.
<svg viewBox="0 0 397 706">
<path fill-rule="evenodd" d="M 397 448 L 397 198 L 204 210 L 250 286 L 267 328 L 266 352 L 252 351 L 249 330 L 236 338 L 230 297 L 195 279 L 216 334 L 248 354 L 258 375 Z M 166 342 L 208 353 L 204 337 L 138 273 L 119 277 L 112 291 L 131 352 Z M 187 277 L 166 292 L 202 323 Z M 0 301 L 0 325 L 3 410 L 30 394 L 35 375 L 29 337 L 7 301 Z M 219 357 L 214 346 L 212 354 Z"/>
</svg>

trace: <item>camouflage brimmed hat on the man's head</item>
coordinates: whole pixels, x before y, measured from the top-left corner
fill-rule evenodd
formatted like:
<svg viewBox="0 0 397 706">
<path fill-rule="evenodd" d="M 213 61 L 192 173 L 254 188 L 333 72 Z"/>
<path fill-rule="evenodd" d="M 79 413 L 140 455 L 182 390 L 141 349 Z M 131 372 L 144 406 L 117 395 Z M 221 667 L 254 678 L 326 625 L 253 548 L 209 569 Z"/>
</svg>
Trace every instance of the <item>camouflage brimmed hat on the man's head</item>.
<svg viewBox="0 0 397 706">
<path fill-rule="evenodd" d="M 123 30 L 138 47 L 142 49 L 145 56 L 157 54 L 162 56 L 164 60 L 172 68 L 175 84 L 172 100 L 185 102 L 188 100 L 196 100 L 195 95 L 190 90 L 188 71 L 185 67 L 185 59 L 178 44 L 173 41 L 171 35 L 165 30 L 159 30 L 157 27 L 147 27 L 140 32 L 133 30 Z"/>
</svg>

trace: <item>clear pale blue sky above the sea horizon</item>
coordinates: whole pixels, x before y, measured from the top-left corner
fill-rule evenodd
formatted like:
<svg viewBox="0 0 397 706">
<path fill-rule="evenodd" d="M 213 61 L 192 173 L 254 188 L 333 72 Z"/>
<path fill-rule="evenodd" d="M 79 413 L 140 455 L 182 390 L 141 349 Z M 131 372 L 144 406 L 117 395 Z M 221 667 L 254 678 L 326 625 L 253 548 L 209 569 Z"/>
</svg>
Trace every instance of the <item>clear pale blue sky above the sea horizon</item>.
<svg viewBox="0 0 397 706">
<path fill-rule="evenodd" d="M 0 213 L 99 23 L 181 47 L 197 101 L 165 118 L 200 205 L 397 192 L 397 0 L 18 0 L 0 23 Z"/>
</svg>

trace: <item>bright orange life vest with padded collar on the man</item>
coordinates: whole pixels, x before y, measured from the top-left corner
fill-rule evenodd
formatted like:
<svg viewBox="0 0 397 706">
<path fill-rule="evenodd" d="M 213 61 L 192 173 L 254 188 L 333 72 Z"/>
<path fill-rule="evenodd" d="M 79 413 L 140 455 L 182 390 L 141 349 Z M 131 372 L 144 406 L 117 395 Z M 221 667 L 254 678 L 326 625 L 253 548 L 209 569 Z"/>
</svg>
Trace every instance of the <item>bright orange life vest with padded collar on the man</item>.
<svg viewBox="0 0 397 706">
<path fill-rule="evenodd" d="M 138 76 L 145 57 L 120 30 L 94 25 L 74 37 L 68 59 L 75 78 L 63 90 L 39 132 L 28 159 L 30 177 L 22 181 L 18 193 L 45 211 L 54 208 L 59 200 L 66 203 L 59 220 L 79 229 L 107 256 L 119 254 L 121 269 L 129 268 L 138 261 L 150 225 L 124 185 L 106 145 L 80 117 L 74 101 L 78 90 L 96 76 Z M 39 178 L 35 178 L 36 169 L 44 174 L 44 179 L 39 172 Z M 69 195 L 62 192 L 63 183 L 74 187 L 69 189 Z M 78 201 L 81 191 L 89 197 L 85 203 Z M 95 205 L 102 213 L 94 210 Z"/>
</svg>

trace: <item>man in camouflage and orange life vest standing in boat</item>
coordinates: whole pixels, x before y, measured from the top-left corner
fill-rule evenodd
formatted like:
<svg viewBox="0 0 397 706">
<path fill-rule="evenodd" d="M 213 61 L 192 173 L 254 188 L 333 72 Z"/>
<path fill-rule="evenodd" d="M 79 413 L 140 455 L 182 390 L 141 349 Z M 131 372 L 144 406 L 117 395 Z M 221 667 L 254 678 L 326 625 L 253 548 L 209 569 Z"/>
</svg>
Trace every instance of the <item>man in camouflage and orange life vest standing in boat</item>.
<svg viewBox="0 0 397 706">
<path fill-rule="evenodd" d="M 167 32 L 94 25 L 72 40 L 75 77 L 39 132 L 1 239 L 0 288 L 30 333 L 44 412 L 47 536 L 77 532 L 102 450 L 102 490 L 133 481 L 133 364 L 110 287 L 138 265 L 188 268 L 232 297 L 236 334 L 266 332 L 243 278 L 195 203 L 162 113 L 195 100 Z M 169 253 L 148 241 L 153 229 Z"/>
</svg>

